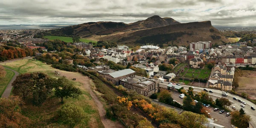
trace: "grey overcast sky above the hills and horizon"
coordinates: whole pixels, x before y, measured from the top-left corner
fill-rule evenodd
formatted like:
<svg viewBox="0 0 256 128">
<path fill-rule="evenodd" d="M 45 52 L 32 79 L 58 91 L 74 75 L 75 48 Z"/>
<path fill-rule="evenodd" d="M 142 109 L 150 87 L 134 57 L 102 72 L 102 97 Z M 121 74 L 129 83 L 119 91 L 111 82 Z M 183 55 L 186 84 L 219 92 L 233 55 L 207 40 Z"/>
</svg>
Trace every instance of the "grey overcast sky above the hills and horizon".
<svg viewBox="0 0 256 128">
<path fill-rule="evenodd" d="M 181 23 L 256 26 L 255 0 L 0 0 L 0 24 L 131 23 L 153 15 Z"/>
</svg>

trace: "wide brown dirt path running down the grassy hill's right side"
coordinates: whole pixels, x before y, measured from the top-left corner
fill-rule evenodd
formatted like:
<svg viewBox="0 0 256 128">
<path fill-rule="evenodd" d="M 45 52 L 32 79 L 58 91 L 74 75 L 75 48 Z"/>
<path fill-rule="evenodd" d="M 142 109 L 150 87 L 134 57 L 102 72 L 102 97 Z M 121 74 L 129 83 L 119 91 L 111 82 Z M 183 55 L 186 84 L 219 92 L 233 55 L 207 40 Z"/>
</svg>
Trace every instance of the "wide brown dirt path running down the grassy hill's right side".
<svg viewBox="0 0 256 128">
<path fill-rule="evenodd" d="M 98 111 L 99 111 L 99 115 L 100 115 L 100 119 L 103 123 L 103 125 L 105 126 L 105 128 L 124 128 L 123 125 L 121 125 L 118 121 L 113 122 L 110 119 L 106 118 L 106 110 L 103 107 L 102 102 L 99 101 L 98 97 L 96 96 L 95 93 L 93 93 L 93 91 L 90 88 L 90 79 L 87 76 L 82 76 L 82 75 L 77 75 L 75 73 L 70 73 L 70 72 L 64 72 L 64 71 L 58 71 L 60 73 L 61 76 L 66 76 L 68 79 L 73 79 L 76 78 L 77 81 L 81 82 L 83 84 L 83 88 L 85 90 L 88 90 L 88 92 L 90 93 L 90 95 L 93 98 L 93 101 L 96 103 L 97 107 L 98 107 Z"/>
</svg>

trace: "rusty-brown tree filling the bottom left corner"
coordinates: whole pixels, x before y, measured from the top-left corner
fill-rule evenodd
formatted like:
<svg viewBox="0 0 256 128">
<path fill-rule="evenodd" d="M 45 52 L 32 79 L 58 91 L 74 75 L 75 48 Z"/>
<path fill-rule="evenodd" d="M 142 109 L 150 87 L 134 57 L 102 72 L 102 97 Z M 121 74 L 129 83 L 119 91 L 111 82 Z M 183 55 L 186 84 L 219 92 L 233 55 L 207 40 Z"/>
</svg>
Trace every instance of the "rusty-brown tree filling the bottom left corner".
<svg viewBox="0 0 256 128">
<path fill-rule="evenodd" d="M 21 114 L 23 102 L 18 96 L 0 98 L 0 128 L 28 128 L 30 119 Z"/>
</svg>

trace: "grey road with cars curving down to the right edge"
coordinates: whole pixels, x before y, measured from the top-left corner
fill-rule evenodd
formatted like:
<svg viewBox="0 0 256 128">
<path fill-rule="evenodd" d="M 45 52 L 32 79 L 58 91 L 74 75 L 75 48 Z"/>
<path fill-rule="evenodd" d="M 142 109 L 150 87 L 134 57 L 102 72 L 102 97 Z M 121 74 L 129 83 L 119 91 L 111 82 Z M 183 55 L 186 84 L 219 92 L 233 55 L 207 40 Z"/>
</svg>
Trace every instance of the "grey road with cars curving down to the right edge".
<svg viewBox="0 0 256 128">
<path fill-rule="evenodd" d="M 184 89 L 187 89 L 187 90 L 188 90 L 188 88 L 190 87 L 190 86 L 188 86 L 188 85 L 180 85 L 180 86 L 183 86 Z M 202 91 L 202 90 L 204 90 L 203 87 L 195 87 L 195 88 L 194 88 L 194 91 L 195 91 L 195 92 L 200 92 L 200 91 Z M 243 109 L 244 109 L 245 113 L 249 114 L 249 115 L 251 116 L 251 118 L 252 118 L 250 124 L 251 124 L 254 128 L 256 128 L 256 111 L 254 111 L 254 110 L 252 110 L 252 109 L 250 108 L 251 106 L 254 106 L 254 107 L 255 107 L 255 106 L 256 106 L 255 104 L 253 104 L 252 102 L 250 102 L 250 101 L 244 99 L 243 97 L 239 97 L 239 96 L 233 95 L 233 94 L 231 94 L 231 93 L 228 93 L 228 96 L 223 96 L 223 95 L 221 94 L 221 92 L 222 92 L 221 90 L 216 90 L 216 89 L 208 89 L 208 90 L 212 90 L 212 91 L 213 91 L 213 93 L 209 93 L 209 95 L 212 96 L 212 98 L 214 98 L 214 97 L 224 97 L 224 98 L 227 98 L 227 99 L 230 100 L 230 102 L 233 102 L 233 104 L 230 105 L 230 107 L 231 107 L 231 106 L 235 106 L 236 109 L 240 109 L 240 108 L 241 108 L 241 106 L 240 106 L 240 105 L 241 105 L 241 102 L 238 102 L 237 100 L 234 100 L 233 97 L 236 97 L 237 99 L 241 99 L 242 101 L 246 102 L 246 105 L 245 105 L 245 107 L 244 107 Z"/>
</svg>

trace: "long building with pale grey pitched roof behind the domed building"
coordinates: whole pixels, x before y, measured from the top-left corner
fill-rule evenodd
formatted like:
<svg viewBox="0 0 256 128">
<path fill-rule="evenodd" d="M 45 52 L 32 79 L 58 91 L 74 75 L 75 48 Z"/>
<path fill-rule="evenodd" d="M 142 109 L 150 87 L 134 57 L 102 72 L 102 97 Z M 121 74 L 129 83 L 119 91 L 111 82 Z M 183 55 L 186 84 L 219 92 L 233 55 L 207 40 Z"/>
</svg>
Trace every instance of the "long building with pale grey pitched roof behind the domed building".
<svg viewBox="0 0 256 128">
<path fill-rule="evenodd" d="M 120 79 L 124 79 L 126 77 L 130 77 L 135 75 L 135 71 L 131 69 L 124 69 L 124 70 L 102 70 L 98 71 L 100 75 L 102 75 L 103 78 L 107 79 L 108 81 L 111 81 L 112 84 L 119 85 Z"/>
</svg>

